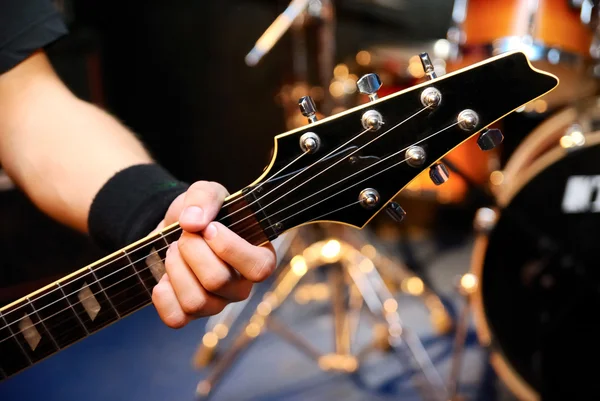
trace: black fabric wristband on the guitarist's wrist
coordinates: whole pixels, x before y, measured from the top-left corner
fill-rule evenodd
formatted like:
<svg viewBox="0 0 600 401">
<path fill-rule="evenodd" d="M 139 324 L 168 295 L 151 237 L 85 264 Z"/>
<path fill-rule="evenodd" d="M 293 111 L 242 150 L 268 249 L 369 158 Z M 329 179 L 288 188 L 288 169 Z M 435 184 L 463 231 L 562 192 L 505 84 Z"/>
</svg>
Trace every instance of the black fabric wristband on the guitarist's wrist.
<svg viewBox="0 0 600 401">
<path fill-rule="evenodd" d="M 113 251 L 145 237 L 188 186 L 158 164 L 139 164 L 119 171 L 92 202 L 88 216 L 92 240 Z"/>
</svg>

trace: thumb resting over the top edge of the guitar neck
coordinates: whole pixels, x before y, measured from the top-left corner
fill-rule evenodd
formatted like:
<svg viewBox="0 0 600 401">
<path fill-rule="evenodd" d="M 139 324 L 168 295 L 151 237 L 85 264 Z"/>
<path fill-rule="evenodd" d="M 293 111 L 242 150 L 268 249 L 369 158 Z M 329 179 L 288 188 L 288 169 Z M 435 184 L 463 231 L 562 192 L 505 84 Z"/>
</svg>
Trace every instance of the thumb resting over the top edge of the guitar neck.
<svg viewBox="0 0 600 401">
<path fill-rule="evenodd" d="M 191 233 L 204 230 L 219 213 L 227 195 L 225 187 L 216 182 L 192 184 L 185 193 L 184 209 L 179 216 L 181 228 Z"/>
</svg>

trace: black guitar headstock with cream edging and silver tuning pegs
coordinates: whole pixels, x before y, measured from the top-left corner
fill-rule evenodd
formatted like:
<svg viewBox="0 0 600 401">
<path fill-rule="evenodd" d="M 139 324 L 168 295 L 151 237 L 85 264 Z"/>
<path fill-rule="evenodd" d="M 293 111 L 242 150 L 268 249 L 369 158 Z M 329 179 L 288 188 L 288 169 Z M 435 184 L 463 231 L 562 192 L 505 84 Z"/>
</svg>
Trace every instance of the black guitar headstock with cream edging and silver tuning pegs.
<svg viewBox="0 0 600 401">
<path fill-rule="evenodd" d="M 436 184 L 448 172 L 438 161 L 479 135 L 482 150 L 502 141 L 486 127 L 554 89 L 558 79 L 534 69 L 521 52 L 505 53 L 407 90 L 377 98 L 377 76 L 358 81 L 371 101 L 317 121 L 314 104 L 300 108 L 310 124 L 275 137 L 269 168 L 242 194 L 269 238 L 310 222 L 362 228 L 423 170 Z"/>
</svg>

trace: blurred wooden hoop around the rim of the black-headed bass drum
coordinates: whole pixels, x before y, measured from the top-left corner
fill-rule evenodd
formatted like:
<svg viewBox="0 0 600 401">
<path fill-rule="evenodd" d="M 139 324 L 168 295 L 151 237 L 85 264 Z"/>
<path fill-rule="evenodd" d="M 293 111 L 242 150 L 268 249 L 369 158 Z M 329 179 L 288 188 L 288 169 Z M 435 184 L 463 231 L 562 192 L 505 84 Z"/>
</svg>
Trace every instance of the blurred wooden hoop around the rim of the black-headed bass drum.
<svg viewBox="0 0 600 401">
<path fill-rule="evenodd" d="M 550 167 L 557 161 L 564 158 L 570 151 L 577 151 L 594 145 L 600 144 L 600 131 L 586 135 L 586 143 L 579 148 L 567 150 L 560 145 L 555 146 L 547 153 L 543 154 L 535 160 L 522 175 L 515 177 L 514 184 L 511 183 L 507 187 L 506 192 L 500 194 L 498 204 L 501 207 L 506 207 L 510 201 L 527 185 L 532 179 L 537 177 L 547 167 Z M 499 210 L 496 210 L 496 215 L 499 216 Z M 473 257 L 471 258 L 471 273 L 481 279 L 484 269 L 484 259 L 489 243 L 487 234 L 478 234 L 475 238 L 473 246 Z M 500 376 L 506 386 L 523 401 L 539 401 L 540 395 L 519 375 L 512 363 L 504 355 L 500 345 L 495 341 L 490 324 L 487 319 L 487 313 L 483 306 L 483 294 L 480 285 L 477 286 L 475 292 L 471 295 L 470 304 L 473 310 L 473 318 L 475 323 L 475 331 L 479 341 L 490 351 L 490 364 Z"/>
</svg>

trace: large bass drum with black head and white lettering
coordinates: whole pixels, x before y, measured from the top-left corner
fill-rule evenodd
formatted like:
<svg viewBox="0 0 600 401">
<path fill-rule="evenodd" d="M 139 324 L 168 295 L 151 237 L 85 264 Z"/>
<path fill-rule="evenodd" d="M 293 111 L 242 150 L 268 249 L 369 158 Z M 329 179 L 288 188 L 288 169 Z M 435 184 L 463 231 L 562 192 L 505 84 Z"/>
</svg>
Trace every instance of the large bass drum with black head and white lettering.
<svg viewBox="0 0 600 401">
<path fill-rule="evenodd" d="M 477 334 L 521 400 L 600 394 L 600 132 L 584 142 L 545 151 L 477 213 Z"/>
</svg>

